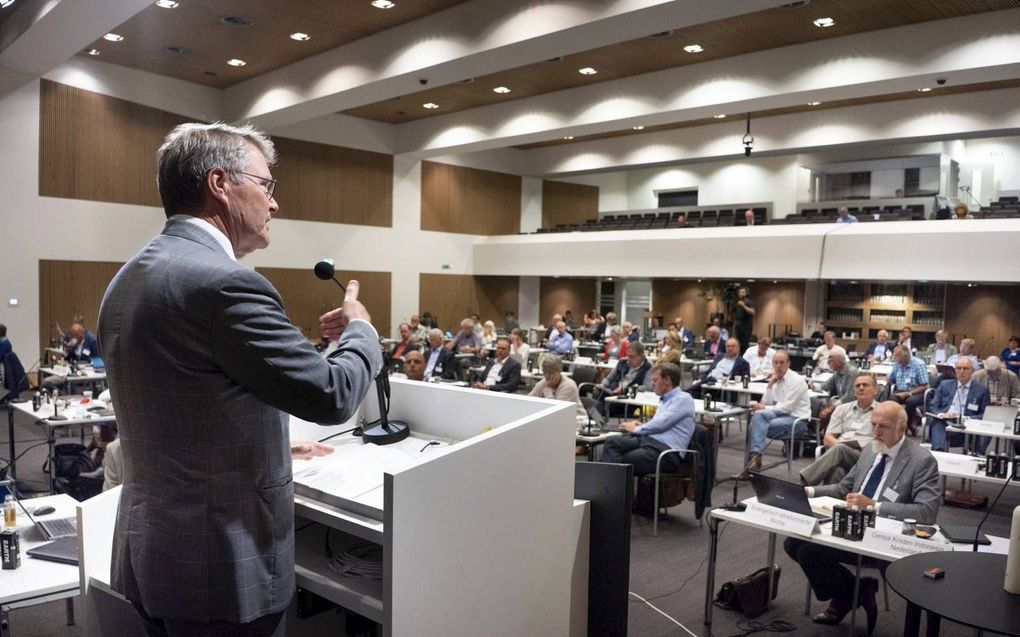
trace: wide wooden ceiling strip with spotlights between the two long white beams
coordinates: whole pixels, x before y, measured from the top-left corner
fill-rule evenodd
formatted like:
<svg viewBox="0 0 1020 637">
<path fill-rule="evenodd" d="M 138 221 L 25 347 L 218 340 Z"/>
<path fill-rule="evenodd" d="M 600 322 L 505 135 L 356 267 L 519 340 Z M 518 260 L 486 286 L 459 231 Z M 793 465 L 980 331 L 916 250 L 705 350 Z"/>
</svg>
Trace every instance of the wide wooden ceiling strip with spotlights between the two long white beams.
<svg viewBox="0 0 1020 637">
<path fill-rule="evenodd" d="M 539 62 L 475 77 L 470 84 L 437 87 L 368 104 L 345 114 L 403 123 L 766 49 L 1013 8 L 1020 8 L 1020 0 L 813 0 L 801 8 L 774 8 L 697 24 L 668 36 L 631 40 L 568 55 L 557 62 Z M 813 20 L 818 17 L 831 17 L 835 25 L 815 26 Z M 705 50 L 686 53 L 683 47 L 688 44 L 699 44 Z M 598 74 L 581 75 L 577 69 L 584 66 L 596 68 Z M 493 92 L 501 86 L 511 93 Z M 423 108 L 427 102 L 440 108 Z"/>
</svg>

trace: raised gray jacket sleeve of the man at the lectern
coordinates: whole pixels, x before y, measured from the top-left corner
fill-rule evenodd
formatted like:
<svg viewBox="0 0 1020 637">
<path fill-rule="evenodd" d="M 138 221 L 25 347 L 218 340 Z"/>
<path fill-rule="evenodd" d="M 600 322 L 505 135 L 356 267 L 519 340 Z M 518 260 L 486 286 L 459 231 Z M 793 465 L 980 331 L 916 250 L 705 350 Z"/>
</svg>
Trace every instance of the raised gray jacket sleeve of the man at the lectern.
<svg viewBox="0 0 1020 637">
<path fill-rule="evenodd" d="M 217 361 L 239 385 L 276 409 L 310 422 L 342 423 L 358 409 L 382 366 L 378 336 L 352 321 L 328 359 L 291 324 L 279 295 L 260 274 L 227 274 L 211 303 Z"/>
</svg>

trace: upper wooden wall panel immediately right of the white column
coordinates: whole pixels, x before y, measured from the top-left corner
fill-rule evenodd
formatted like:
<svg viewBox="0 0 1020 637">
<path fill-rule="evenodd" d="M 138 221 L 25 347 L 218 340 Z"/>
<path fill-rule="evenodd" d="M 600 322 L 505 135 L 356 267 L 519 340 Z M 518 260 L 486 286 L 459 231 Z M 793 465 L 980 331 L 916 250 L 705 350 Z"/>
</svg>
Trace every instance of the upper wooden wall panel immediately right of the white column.
<svg viewBox="0 0 1020 637">
<path fill-rule="evenodd" d="M 520 177 L 421 162 L 421 229 L 465 234 L 520 231 Z"/>
</svg>

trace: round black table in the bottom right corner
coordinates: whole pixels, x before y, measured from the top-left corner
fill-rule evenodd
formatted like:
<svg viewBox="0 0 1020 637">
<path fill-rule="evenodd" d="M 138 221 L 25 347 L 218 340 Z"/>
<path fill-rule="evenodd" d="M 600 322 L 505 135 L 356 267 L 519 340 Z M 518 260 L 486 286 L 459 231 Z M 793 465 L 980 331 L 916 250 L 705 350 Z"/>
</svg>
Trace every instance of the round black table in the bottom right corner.
<svg viewBox="0 0 1020 637">
<path fill-rule="evenodd" d="M 932 567 L 946 577 L 932 580 Z M 941 618 L 980 630 L 1020 635 L 1020 595 L 1003 590 L 1006 555 L 970 551 L 921 553 L 889 565 L 885 581 L 907 600 L 903 634 L 915 637 L 921 628 L 921 609 L 927 612 L 927 632 L 938 635 Z"/>
</svg>

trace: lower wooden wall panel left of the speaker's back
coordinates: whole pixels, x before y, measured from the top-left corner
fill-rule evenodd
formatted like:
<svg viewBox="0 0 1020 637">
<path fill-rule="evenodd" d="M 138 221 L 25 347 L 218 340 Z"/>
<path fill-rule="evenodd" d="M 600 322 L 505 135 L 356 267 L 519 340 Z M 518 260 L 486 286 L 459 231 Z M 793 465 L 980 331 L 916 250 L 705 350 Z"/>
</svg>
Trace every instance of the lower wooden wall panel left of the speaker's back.
<svg viewBox="0 0 1020 637">
<path fill-rule="evenodd" d="M 39 261 L 39 351 L 58 336 L 56 326 L 67 331 L 78 314 L 96 333 L 103 295 L 122 263 L 104 261 Z M 32 361 L 22 361 L 28 369 Z"/>
</svg>

